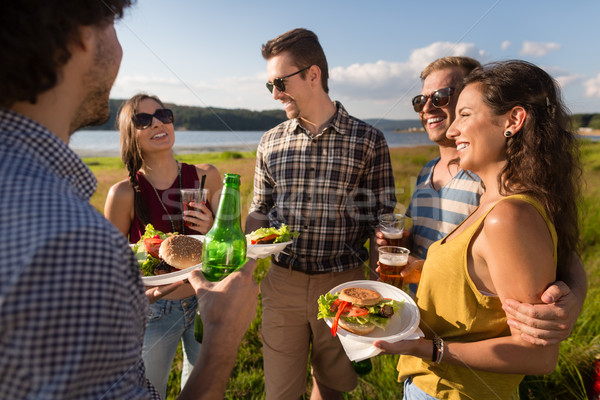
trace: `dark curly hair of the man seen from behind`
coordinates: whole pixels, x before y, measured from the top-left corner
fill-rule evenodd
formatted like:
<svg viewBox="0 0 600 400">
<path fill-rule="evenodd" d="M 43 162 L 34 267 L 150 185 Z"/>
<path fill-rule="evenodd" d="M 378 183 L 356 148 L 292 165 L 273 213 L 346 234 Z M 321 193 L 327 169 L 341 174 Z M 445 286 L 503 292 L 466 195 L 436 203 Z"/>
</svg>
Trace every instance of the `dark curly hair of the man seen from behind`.
<svg viewBox="0 0 600 400">
<path fill-rule="evenodd" d="M 9 0 L 0 11 L 0 106 L 36 102 L 69 61 L 78 27 L 110 24 L 135 0 Z"/>
</svg>

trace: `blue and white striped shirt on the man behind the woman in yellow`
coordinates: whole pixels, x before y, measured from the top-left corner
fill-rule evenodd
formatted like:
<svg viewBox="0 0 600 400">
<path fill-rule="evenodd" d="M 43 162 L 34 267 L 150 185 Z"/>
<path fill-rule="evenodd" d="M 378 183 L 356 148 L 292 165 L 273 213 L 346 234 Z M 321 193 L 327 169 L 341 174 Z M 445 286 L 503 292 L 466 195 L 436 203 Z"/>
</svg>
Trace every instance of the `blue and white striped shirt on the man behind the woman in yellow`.
<svg viewBox="0 0 600 400">
<path fill-rule="evenodd" d="M 479 205 L 483 193 L 481 179 L 473 172 L 460 170 L 440 190 L 431 184 L 433 168 L 439 157 L 419 172 L 406 215 L 413 220 L 413 254 L 427 256 L 427 249 L 448 235 Z"/>
</svg>

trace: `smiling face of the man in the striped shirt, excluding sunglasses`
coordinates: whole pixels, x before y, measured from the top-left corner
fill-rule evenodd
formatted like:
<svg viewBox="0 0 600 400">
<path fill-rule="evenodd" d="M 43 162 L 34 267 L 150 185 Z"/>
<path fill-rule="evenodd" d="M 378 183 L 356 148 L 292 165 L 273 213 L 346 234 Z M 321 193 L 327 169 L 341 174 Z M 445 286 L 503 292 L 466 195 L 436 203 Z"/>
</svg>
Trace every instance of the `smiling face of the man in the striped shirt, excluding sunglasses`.
<svg viewBox="0 0 600 400">
<path fill-rule="evenodd" d="M 464 78 L 464 72 L 459 68 L 446 68 L 434 71 L 427 75 L 423 81 L 423 89 L 421 94 L 426 96 L 431 95 L 436 90 L 447 87 L 456 88 L 460 85 Z M 427 103 L 423 110 L 419 112 L 421 124 L 429 135 L 429 140 L 442 146 L 453 146 L 454 143 L 446 137 L 446 131 L 454 122 L 456 94 L 450 96 L 448 105 L 437 108 L 431 104 L 431 99 L 427 99 Z"/>
</svg>

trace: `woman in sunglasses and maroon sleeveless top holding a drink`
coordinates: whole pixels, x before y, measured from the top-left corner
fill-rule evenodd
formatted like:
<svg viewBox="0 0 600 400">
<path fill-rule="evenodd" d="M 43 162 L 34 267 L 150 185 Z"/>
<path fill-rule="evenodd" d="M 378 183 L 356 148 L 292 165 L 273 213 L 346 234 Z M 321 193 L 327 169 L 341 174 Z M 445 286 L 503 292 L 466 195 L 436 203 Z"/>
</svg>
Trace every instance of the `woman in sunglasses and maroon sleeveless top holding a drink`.
<svg viewBox="0 0 600 400">
<path fill-rule="evenodd" d="M 130 243 L 140 239 L 146 224 L 180 234 L 205 234 L 212 226 L 210 204 L 192 203 L 195 211 L 186 211 L 182 220 L 180 190 L 207 188 L 210 203 L 217 204 L 221 181 L 212 165 L 188 165 L 175 159 L 173 122 L 172 111 L 159 98 L 146 94 L 133 96 L 119 112 L 121 160 L 129 178 L 111 187 L 104 214 Z M 184 350 L 181 387 L 198 358 L 200 344 L 193 332 L 196 309 L 189 284 L 150 305 L 142 356 L 146 376 L 162 398 L 179 341 Z"/>
</svg>

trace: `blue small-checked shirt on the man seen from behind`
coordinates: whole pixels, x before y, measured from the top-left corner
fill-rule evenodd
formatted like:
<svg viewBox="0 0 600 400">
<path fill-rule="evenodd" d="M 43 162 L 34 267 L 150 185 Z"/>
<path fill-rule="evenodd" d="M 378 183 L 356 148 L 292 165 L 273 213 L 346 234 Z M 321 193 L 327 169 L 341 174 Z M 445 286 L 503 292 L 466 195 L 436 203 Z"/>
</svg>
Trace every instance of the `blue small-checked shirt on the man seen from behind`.
<svg viewBox="0 0 600 400">
<path fill-rule="evenodd" d="M 0 108 L 0 397 L 158 398 L 141 357 L 148 302 L 96 179 L 46 128 Z"/>
</svg>

